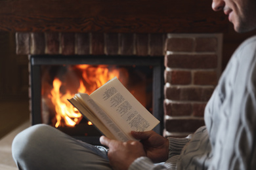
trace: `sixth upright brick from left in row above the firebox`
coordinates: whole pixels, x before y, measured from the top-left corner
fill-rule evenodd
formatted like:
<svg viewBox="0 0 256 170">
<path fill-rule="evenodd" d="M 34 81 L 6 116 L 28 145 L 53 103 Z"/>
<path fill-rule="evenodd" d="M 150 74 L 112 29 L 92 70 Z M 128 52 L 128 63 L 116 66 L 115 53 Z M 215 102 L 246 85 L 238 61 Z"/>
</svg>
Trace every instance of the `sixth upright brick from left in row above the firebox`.
<svg viewBox="0 0 256 170">
<path fill-rule="evenodd" d="M 92 54 L 103 55 L 104 54 L 104 34 L 92 33 L 91 46 L 92 46 Z"/>
</svg>

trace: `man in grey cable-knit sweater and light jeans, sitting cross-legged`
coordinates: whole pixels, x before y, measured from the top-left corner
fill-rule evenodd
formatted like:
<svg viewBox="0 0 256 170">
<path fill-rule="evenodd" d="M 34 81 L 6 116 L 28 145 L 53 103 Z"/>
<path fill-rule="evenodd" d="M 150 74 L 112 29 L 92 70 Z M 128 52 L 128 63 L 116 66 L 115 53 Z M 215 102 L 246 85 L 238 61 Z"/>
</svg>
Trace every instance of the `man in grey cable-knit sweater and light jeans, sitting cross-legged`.
<svg viewBox="0 0 256 170">
<path fill-rule="evenodd" d="M 256 28 L 255 0 L 213 0 L 240 33 Z M 46 125 L 17 135 L 13 157 L 20 169 L 253 169 L 256 167 L 256 37 L 234 53 L 207 107 L 205 127 L 192 137 L 165 139 L 154 131 L 131 134 L 109 147 L 91 146 Z"/>
</svg>

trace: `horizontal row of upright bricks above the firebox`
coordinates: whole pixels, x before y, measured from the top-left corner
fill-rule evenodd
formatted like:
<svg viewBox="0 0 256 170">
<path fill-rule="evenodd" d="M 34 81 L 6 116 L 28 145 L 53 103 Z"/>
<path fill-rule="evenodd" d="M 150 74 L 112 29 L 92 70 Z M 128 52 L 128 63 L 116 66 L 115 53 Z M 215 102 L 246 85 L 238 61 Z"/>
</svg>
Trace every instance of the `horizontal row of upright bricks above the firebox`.
<svg viewBox="0 0 256 170">
<path fill-rule="evenodd" d="M 164 56 L 162 33 L 16 33 L 17 54 Z"/>
</svg>

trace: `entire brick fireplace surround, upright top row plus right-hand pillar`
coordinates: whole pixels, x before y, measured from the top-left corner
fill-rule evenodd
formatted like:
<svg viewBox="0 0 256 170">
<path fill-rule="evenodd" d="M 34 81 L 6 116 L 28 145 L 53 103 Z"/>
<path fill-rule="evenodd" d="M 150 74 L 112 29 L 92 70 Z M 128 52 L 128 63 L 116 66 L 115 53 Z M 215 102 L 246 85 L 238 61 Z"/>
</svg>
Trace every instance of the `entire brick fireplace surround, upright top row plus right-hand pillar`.
<svg viewBox="0 0 256 170">
<path fill-rule="evenodd" d="M 203 126 L 221 74 L 221 34 L 16 33 L 17 54 L 165 56 L 165 136 Z"/>
</svg>

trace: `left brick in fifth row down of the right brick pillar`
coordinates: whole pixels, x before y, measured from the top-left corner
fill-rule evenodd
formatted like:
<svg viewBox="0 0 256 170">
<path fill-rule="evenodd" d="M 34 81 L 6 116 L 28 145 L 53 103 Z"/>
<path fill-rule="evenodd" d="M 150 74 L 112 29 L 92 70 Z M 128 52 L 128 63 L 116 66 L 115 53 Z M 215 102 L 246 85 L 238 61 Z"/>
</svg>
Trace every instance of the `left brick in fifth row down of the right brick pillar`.
<svg viewBox="0 0 256 170">
<path fill-rule="evenodd" d="M 164 101 L 164 112 L 168 116 L 190 116 L 192 105 L 190 103 L 168 103 Z"/>
</svg>

